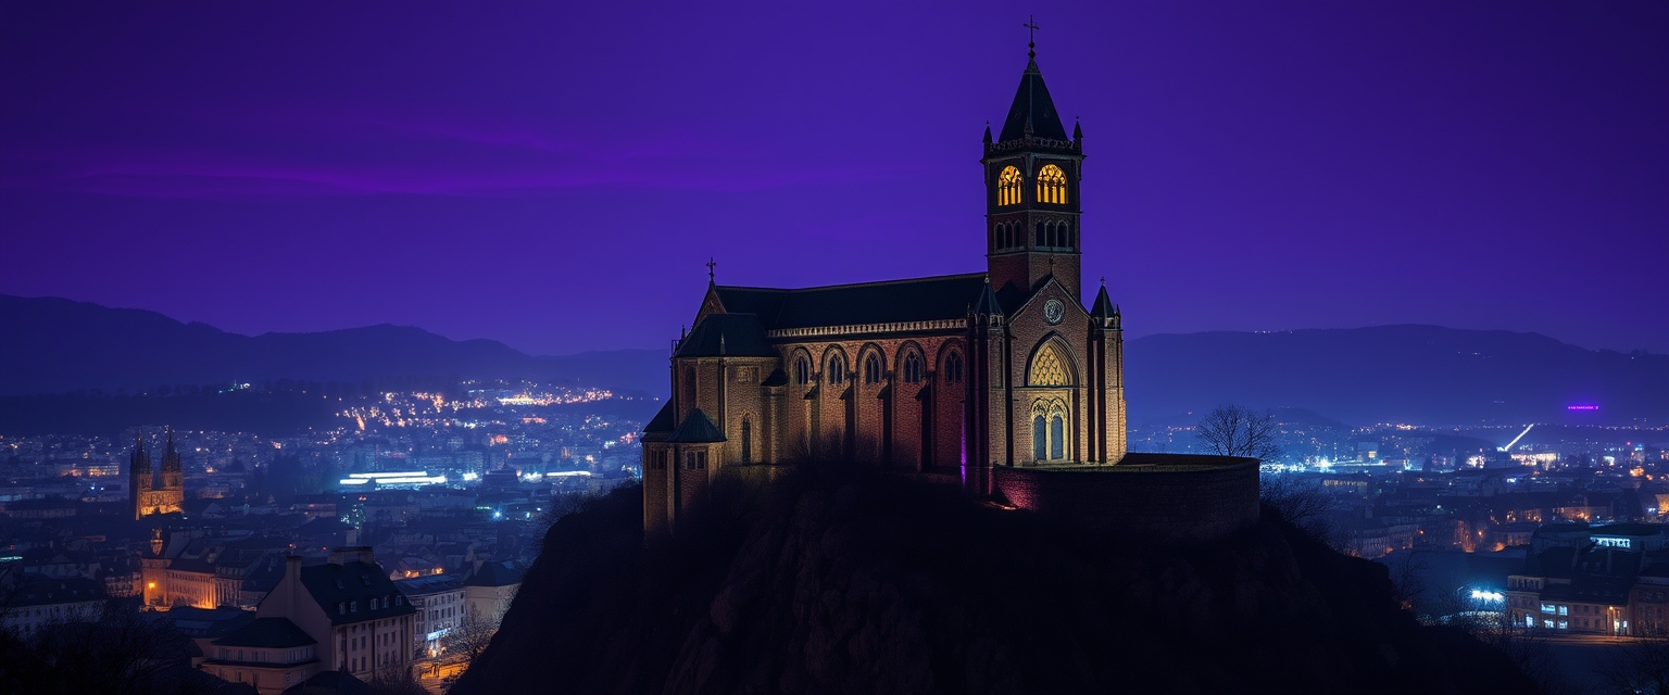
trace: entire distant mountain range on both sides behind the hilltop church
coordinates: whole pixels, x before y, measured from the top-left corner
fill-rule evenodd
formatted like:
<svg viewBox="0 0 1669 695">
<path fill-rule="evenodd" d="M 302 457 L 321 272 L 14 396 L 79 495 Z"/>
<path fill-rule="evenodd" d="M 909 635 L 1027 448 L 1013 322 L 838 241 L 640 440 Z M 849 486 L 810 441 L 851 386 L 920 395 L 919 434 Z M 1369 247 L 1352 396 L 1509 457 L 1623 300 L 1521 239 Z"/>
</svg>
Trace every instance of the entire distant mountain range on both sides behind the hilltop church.
<svg viewBox="0 0 1669 695">
<path fill-rule="evenodd" d="M 654 395 L 668 383 L 664 350 L 532 357 L 396 325 L 247 337 L 155 312 L 0 295 L 0 395 L 409 375 L 567 378 Z M 1125 373 L 1133 422 L 1193 422 L 1235 402 L 1350 425 L 1669 423 L 1669 355 L 1537 333 L 1389 325 L 1148 335 L 1125 343 Z"/>
</svg>

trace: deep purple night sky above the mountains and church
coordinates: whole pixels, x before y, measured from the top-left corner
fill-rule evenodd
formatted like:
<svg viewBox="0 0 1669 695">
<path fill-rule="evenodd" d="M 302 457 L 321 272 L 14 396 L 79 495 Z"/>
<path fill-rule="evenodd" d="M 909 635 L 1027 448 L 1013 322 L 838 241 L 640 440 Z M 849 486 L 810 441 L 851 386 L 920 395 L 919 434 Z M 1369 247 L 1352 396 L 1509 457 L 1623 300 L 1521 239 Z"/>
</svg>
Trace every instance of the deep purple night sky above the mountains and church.
<svg viewBox="0 0 1669 695">
<path fill-rule="evenodd" d="M 1661 0 L 5 3 L 0 293 L 569 353 L 664 347 L 709 255 L 978 272 L 1026 12 L 1132 337 L 1669 352 Z"/>
</svg>

